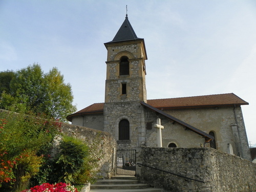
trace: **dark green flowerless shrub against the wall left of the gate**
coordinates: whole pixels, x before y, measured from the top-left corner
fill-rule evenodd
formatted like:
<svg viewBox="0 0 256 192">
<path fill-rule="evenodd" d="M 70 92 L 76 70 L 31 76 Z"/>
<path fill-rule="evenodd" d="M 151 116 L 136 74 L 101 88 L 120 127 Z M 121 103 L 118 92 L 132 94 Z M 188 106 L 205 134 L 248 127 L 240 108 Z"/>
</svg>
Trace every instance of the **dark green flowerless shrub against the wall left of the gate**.
<svg viewBox="0 0 256 192">
<path fill-rule="evenodd" d="M 74 137 L 63 136 L 57 146 L 55 157 L 44 157 L 39 174 L 33 184 L 66 182 L 72 184 L 93 183 L 97 179 L 100 137 L 90 147 Z"/>
</svg>

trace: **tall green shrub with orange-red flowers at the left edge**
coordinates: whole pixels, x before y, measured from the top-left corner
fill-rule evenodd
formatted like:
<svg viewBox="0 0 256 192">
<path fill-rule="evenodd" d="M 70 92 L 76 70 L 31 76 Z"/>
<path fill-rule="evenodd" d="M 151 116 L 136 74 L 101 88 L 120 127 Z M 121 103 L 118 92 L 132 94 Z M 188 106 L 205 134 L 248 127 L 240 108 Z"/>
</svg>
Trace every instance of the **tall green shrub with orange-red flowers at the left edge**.
<svg viewBox="0 0 256 192">
<path fill-rule="evenodd" d="M 0 119 L 1 191 L 20 191 L 38 173 L 41 153 L 59 133 L 59 124 L 42 116 L 7 111 L 0 111 Z"/>
</svg>

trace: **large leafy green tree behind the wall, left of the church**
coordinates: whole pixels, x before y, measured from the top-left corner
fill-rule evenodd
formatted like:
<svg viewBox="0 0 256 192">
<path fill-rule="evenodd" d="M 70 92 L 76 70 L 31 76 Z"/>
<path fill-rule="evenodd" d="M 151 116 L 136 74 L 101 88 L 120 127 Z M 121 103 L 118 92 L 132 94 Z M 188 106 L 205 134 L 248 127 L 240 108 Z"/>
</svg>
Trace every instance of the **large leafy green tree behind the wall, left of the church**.
<svg viewBox="0 0 256 192">
<path fill-rule="evenodd" d="M 75 112 L 69 83 L 57 68 L 44 73 L 38 63 L 17 72 L 0 73 L 0 108 L 15 112 L 32 111 L 66 121 Z"/>
</svg>

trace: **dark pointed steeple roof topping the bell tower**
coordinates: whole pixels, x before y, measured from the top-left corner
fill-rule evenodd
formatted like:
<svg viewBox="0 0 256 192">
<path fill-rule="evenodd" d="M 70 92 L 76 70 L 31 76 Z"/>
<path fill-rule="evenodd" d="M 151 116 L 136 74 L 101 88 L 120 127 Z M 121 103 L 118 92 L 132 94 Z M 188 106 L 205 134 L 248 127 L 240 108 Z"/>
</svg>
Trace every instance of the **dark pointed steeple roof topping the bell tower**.
<svg viewBox="0 0 256 192">
<path fill-rule="evenodd" d="M 128 20 L 128 16 L 126 14 L 125 20 L 121 25 L 120 29 L 118 30 L 116 36 L 110 42 L 120 42 L 120 41 L 127 41 L 127 40 L 138 40 L 142 38 L 138 38 L 135 34 L 132 25 Z"/>
</svg>

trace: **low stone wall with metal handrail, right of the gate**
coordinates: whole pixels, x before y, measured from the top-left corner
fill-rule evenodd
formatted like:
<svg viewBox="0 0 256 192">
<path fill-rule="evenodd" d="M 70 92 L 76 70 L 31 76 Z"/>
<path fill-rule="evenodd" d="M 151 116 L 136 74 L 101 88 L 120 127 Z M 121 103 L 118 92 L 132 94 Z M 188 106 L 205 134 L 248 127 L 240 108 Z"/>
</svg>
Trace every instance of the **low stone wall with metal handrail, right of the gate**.
<svg viewBox="0 0 256 192">
<path fill-rule="evenodd" d="M 142 164 L 205 183 L 142 166 L 140 179 L 165 191 L 256 191 L 256 164 L 212 148 L 142 147 Z"/>
</svg>

